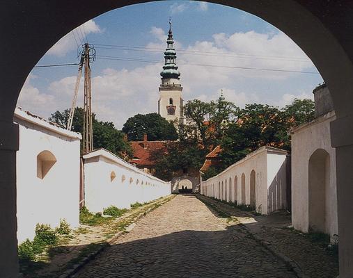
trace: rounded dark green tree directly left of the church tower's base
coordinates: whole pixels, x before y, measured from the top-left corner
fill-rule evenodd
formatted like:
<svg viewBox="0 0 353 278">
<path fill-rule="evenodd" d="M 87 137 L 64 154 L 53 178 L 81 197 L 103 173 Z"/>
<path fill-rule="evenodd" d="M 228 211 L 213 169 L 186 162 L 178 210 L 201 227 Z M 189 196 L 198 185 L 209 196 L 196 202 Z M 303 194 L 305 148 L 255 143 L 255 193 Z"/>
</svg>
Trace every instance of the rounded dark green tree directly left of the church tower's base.
<svg viewBox="0 0 353 278">
<path fill-rule="evenodd" d="M 127 134 L 130 141 L 143 140 L 144 133 L 147 133 L 148 140 L 151 141 L 178 139 L 174 124 L 157 113 L 137 114 L 130 117 L 123 126 L 123 132 Z"/>
</svg>

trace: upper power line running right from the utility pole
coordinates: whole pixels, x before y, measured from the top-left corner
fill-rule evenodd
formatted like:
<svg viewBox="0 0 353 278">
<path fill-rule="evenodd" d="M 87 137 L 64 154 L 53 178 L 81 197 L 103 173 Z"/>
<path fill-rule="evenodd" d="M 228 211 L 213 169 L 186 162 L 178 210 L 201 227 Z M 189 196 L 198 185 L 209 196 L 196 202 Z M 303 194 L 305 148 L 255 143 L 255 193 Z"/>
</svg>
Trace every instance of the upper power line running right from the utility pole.
<svg viewBox="0 0 353 278">
<path fill-rule="evenodd" d="M 118 50 L 132 50 L 132 49 L 141 49 L 141 51 L 164 51 L 165 49 L 157 48 L 157 47 L 135 47 L 135 46 L 126 46 L 126 45 L 114 45 L 114 44 L 95 44 L 96 48 L 105 48 L 105 49 L 118 49 Z M 111 47 L 111 48 L 110 48 Z M 189 49 L 178 49 L 178 52 L 186 54 L 186 53 L 193 53 L 193 54 L 220 54 L 224 56 L 250 56 L 254 58 L 289 58 L 292 60 L 303 61 L 303 62 L 310 62 L 310 60 L 301 57 L 290 57 L 290 56 L 270 56 L 270 55 L 258 55 L 258 54 L 240 54 L 236 52 L 212 52 L 212 51 L 199 51 L 199 50 L 189 50 Z"/>
</svg>

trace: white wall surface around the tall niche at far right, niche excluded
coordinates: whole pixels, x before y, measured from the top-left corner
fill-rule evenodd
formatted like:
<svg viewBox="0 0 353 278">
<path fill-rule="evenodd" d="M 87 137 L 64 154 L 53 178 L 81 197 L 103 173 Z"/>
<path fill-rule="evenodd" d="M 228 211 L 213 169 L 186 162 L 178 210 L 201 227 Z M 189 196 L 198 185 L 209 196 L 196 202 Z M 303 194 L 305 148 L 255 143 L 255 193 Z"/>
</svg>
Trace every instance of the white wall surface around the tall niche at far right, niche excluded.
<svg viewBox="0 0 353 278">
<path fill-rule="evenodd" d="M 334 112 L 327 113 L 309 124 L 292 131 L 292 224 L 295 229 L 308 232 L 308 165 L 317 149 L 329 154 L 329 184 L 326 188 L 325 222 L 327 234 L 338 234 L 336 194 L 336 151 L 331 147 L 330 122 Z"/>
</svg>

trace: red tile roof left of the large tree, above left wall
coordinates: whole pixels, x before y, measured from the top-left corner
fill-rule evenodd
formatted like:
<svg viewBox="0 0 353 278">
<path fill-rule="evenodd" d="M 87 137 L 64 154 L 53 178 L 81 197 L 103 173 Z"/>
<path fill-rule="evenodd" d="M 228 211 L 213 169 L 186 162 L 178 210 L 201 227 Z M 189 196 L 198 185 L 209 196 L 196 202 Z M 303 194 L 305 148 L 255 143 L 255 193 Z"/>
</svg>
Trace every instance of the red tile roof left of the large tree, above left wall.
<svg viewBox="0 0 353 278">
<path fill-rule="evenodd" d="M 132 147 L 132 152 L 134 153 L 134 157 L 130 159 L 130 163 L 134 163 L 137 166 L 153 166 L 155 165 L 155 161 L 153 161 L 153 154 L 157 150 L 162 150 L 162 152 L 166 152 L 166 143 L 168 141 L 135 141 L 130 142 Z M 146 148 L 144 147 L 146 144 Z"/>
</svg>

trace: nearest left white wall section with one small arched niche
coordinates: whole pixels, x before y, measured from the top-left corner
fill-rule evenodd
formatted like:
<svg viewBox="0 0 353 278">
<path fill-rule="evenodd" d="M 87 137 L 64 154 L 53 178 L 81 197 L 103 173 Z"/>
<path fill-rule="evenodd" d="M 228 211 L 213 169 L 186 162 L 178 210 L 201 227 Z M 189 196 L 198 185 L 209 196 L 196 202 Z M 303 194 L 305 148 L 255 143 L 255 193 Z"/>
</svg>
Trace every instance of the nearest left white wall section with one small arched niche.
<svg viewBox="0 0 353 278">
<path fill-rule="evenodd" d="M 17 152 L 17 238 L 32 239 L 37 223 L 79 224 L 79 142 L 81 135 L 15 110 Z"/>
</svg>

